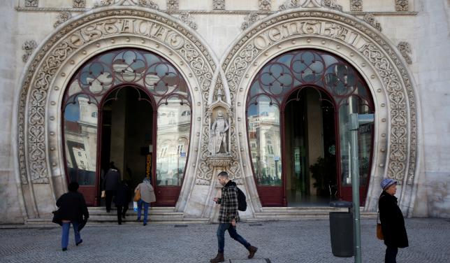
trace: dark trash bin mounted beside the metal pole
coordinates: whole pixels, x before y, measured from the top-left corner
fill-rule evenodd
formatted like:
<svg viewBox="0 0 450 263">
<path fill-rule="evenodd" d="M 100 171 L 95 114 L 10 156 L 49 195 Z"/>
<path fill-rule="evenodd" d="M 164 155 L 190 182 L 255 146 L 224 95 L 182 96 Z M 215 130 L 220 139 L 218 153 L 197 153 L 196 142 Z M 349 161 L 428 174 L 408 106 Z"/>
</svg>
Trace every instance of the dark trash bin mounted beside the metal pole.
<svg viewBox="0 0 450 263">
<path fill-rule="evenodd" d="M 331 252 L 335 257 L 354 256 L 353 203 L 349 201 L 331 201 L 331 207 L 349 208 L 348 212 L 330 212 Z"/>
</svg>

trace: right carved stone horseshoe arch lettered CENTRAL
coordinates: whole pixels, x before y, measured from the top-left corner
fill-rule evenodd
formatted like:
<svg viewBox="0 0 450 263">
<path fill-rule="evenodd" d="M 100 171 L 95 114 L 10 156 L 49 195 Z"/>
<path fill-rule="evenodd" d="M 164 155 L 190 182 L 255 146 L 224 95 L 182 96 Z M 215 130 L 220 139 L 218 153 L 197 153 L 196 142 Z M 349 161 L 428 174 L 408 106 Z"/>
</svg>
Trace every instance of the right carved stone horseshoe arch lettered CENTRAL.
<svg viewBox="0 0 450 263">
<path fill-rule="evenodd" d="M 347 60 L 368 83 L 375 102 L 375 140 L 372 177 L 365 202 L 375 211 L 389 177 L 401 185 L 400 207 L 409 215 L 414 206 L 417 169 L 418 106 L 412 75 L 388 38 L 363 20 L 328 8 L 294 8 L 249 27 L 231 45 L 221 67 L 231 93 L 236 134 L 246 134 L 245 99 L 259 70 L 277 55 L 299 48 L 332 52 Z M 258 200 L 252 176 L 247 137 L 237 136 L 240 169 L 252 200 Z M 254 211 L 261 204 L 254 202 Z"/>
</svg>

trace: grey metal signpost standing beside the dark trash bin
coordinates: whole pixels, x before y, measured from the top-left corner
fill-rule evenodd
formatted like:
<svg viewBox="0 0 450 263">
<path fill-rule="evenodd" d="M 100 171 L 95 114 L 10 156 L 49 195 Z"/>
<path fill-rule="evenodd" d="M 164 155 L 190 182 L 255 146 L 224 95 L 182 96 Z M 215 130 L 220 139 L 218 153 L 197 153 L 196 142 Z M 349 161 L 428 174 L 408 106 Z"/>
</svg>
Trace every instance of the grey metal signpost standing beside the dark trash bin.
<svg viewBox="0 0 450 263">
<path fill-rule="evenodd" d="M 358 113 L 350 114 L 351 132 L 351 189 L 353 197 L 355 263 L 361 263 L 361 222 L 359 215 Z"/>
</svg>

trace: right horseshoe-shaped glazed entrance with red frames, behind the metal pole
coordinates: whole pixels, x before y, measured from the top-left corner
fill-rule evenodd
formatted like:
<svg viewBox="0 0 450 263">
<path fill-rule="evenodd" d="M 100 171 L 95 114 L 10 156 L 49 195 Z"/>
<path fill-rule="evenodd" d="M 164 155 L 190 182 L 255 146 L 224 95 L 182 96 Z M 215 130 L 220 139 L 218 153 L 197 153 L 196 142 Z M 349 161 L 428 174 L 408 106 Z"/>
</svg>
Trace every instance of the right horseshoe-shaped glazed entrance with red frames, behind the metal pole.
<svg viewBox="0 0 450 263">
<path fill-rule="evenodd" d="M 249 149 L 263 206 L 351 200 L 350 113 L 374 114 L 375 107 L 367 84 L 344 59 L 302 49 L 263 66 L 247 94 Z M 372 124 L 359 130 L 361 200 L 372 131 Z"/>
</svg>

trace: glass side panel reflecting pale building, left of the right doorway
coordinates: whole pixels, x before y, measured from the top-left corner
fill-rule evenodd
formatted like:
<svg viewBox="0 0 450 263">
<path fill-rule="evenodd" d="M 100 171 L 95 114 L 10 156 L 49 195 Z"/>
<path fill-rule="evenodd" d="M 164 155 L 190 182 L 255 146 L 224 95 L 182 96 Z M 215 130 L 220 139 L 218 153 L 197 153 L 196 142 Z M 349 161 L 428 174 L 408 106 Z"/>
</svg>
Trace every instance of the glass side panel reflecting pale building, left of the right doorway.
<svg viewBox="0 0 450 263">
<path fill-rule="evenodd" d="M 280 113 L 260 101 L 257 113 L 249 115 L 249 145 L 259 185 L 281 185 Z"/>
</svg>

